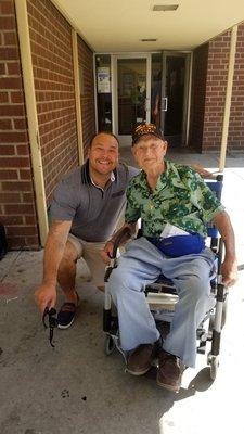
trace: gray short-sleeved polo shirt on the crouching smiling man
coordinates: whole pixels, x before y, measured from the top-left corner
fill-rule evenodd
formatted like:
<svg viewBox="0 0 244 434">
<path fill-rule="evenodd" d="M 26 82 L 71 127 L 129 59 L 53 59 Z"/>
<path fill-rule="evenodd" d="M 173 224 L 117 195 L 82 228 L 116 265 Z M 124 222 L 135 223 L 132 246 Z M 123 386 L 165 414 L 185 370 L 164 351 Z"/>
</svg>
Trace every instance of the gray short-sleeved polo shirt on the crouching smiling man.
<svg viewBox="0 0 244 434">
<path fill-rule="evenodd" d="M 72 220 L 70 233 L 85 241 L 107 241 L 125 209 L 127 184 L 138 173 L 120 163 L 114 180 L 101 189 L 92 183 L 89 162 L 85 163 L 57 184 L 51 204 L 52 220 Z"/>
</svg>

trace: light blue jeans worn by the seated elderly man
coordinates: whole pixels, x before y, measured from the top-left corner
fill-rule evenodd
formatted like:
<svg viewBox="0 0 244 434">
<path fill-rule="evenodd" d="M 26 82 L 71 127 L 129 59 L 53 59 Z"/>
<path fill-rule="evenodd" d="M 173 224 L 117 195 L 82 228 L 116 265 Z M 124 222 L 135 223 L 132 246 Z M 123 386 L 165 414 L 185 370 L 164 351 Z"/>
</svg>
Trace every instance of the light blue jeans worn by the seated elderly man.
<svg viewBox="0 0 244 434">
<path fill-rule="evenodd" d="M 197 255 L 169 258 L 143 237 L 128 243 L 108 282 L 118 311 L 121 348 L 130 350 L 158 340 L 143 288 L 160 273 L 172 280 L 179 295 L 163 347 L 185 366 L 194 367 L 196 329 L 214 305 L 210 280 L 215 276 L 215 255 L 208 247 Z"/>
</svg>

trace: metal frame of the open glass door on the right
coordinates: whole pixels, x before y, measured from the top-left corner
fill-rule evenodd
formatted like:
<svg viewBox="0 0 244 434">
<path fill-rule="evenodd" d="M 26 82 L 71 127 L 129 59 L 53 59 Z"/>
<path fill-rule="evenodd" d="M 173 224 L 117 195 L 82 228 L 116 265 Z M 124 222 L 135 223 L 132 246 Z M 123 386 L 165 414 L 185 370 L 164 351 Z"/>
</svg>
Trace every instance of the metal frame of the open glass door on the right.
<svg viewBox="0 0 244 434">
<path fill-rule="evenodd" d="M 190 92 L 191 92 L 191 69 L 192 69 L 192 52 L 191 51 L 170 51 L 164 50 L 162 52 L 162 113 L 160 125 L 164 133 L 165 129 L 165 113 L 163 110 L 163 99 L 166 95 L 166 60 L 167 56 L 185 58 L 185 76 L 184 76 L 184 97 L 183 97 L 183 116 L 182 116 L 182 140 L 181 145 L 185 146 L 188 143 L 189 135 L 189 119 L 190 119 Z M 165 72 L 165 73 L 164 73 Z"/>
</svg>

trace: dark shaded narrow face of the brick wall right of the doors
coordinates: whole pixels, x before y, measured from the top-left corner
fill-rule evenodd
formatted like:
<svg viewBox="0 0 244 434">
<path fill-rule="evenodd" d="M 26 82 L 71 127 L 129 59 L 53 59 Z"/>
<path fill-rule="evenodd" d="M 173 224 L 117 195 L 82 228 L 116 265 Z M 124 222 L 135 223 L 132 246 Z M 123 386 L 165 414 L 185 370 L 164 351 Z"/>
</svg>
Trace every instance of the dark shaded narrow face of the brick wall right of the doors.
<svg viewBox="0 0 244 434">
<path fill-rule="evenodd" d="M 208 43 L 193 52 L 190 145 L 202 150 L 206 99 Z"/>
</svg>

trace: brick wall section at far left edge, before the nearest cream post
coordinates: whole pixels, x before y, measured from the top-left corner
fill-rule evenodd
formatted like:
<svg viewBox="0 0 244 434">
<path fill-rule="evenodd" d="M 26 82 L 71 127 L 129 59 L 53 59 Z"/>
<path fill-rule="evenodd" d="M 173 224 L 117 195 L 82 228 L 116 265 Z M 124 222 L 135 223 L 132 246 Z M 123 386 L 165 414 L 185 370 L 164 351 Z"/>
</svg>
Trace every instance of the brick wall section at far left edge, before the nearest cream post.
<svg viewBox="0 0 244 434">
<path fill-rule="evenodd" d="M 39 245 L 14 1 L 0 2 L 0 220 L 10 248 Z"/>
</svg>

